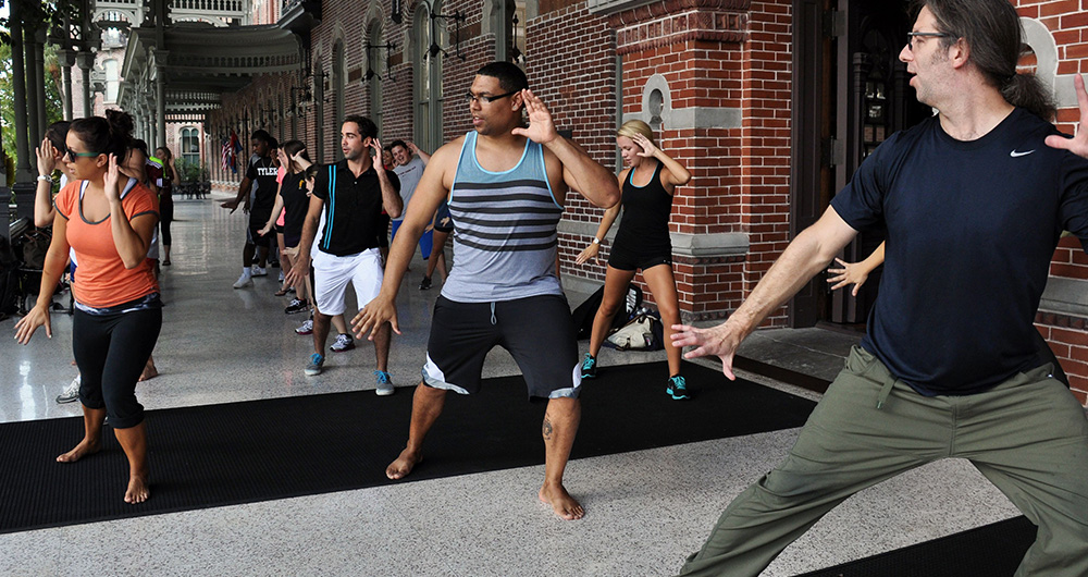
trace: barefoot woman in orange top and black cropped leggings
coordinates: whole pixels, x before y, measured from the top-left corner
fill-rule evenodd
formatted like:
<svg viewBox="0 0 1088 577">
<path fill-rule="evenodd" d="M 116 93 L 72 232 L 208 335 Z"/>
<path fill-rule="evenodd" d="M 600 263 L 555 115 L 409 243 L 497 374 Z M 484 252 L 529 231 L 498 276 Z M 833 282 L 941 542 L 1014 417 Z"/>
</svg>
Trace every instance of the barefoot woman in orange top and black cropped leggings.
<svg viewBox="0 0 1088 577">
<path fill-rule="evenodd" d="M 69 128 L 62 160 L 74 180 L 57 195 L 53 240 L 38 294 L 53 293 L 69 248 L 74 249 L 79 282 L 73 285 L 72 348 L 82 375 L 84 438 L 57 461 L 74 463 L 98 452 L 109 415 L 128 458 L 125 502 L 141 503 L 150 492 L 147 429 L 136 380 L 162 326 L 159 284 L 147 259 L 159 204 L 118 168 L 132 140 L 132 116 L 115 110 L 107 116 L 78 119 Z M 39 298 L 15 324 L 15 339 L 28 343 L 38 327 L 52 336 L 49 298 Z"/>
</svg>

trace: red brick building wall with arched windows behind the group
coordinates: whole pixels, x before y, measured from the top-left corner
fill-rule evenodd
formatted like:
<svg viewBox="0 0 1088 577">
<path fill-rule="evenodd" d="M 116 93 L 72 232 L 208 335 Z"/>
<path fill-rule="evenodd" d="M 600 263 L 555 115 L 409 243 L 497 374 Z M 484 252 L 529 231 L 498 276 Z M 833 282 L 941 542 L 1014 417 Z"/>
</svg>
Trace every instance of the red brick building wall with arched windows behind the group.
<svg viewBox="0 0 1088 577">
<path fill-rule="evenodd" d="M 1017 0 L 1025 65 L 1054 87 L 1058 122 L 1077 120 L 1072 76 L 1088 72 L 1088 0 Z M 898 61 L 913 22 L 902 0 L 295 0 L 264 7 L 293 30 L 297 72 L 257 75 L 207 114 L 212 179 L 222 140 L 257 127 L 297 137 L 321 160 L 338 152 L 345 112 L 373 118 L 382 138 L 433 150 L 470 130 L 462 94 L 495 60 L 521 63 L 560 130 L 617 167 L 615 131 L 640 118 L 693 179 L 673 202 L 675 269 L 687 319 L 722 318 L 789 241 L 815 221 L 864 156 L 930 114 Z M 517 23 L 515 24 L 515 19 Z M 599 283 L 578 267 L 602 211 L 578 198 L 560 225 L 565 282 Z M 614 228 L 615 231 L 615 228 Z M 860 235 L 844 258 L 879 242 Z M 608 243 L 605 242 L 605 255 Z M 857 326 L 878 274 L 856 299 L 815 279 L 769 327 Z M 936 297 L 937 295 L 935 295 Z M 1037 319 L 1071 376 L 1088 391 L 1088 258 L 1065 238 Z"/>
</svg>

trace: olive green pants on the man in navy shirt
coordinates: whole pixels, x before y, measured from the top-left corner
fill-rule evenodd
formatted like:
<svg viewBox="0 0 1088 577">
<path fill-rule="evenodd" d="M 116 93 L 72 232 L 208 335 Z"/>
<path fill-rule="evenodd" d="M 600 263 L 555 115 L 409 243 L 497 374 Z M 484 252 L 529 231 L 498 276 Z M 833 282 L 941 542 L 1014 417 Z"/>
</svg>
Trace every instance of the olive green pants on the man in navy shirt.
<svg viewBox="0 0 1088 577">
<path fill-rule="evenodd" d="M 681 574 L 756 576 L 850 495 L 962 457 L 1039 527 L 1016 577 L 1088 576 L 1088 419 L 1050 371 L 926 397 L 855 346 L 786 461 L 729 504 Z"/>
</svg>

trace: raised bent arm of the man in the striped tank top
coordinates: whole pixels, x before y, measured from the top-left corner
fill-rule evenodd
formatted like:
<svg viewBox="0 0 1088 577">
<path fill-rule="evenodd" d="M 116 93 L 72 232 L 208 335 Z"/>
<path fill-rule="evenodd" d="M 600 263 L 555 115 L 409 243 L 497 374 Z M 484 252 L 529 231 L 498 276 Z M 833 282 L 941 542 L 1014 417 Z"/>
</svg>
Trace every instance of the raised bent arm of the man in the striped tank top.
<svg viewBox="0 0 1088 577">
<path fill-rule="evenodd" d="M 521 90 L 521 100 L 529 112 L 529 126 L 514 128 L 514 134 L 547 147 L 562 163 L 562 180 L 595 206 L 609 208 L 619 201 L 616 176 L 581 147 L 559 136 L 552 122 L 552 112 L 531 90 Z"/>
</svg>

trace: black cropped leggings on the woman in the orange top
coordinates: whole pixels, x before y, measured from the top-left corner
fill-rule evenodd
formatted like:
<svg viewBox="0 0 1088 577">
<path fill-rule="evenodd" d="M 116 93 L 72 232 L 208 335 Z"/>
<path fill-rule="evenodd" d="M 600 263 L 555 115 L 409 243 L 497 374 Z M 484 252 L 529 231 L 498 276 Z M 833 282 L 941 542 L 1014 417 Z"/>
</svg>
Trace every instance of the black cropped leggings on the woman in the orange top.
<svg viewBox="0 0 1088 577">
<path fill-rule="evenodd" d="M 161 328 L 161 308 L 101 316 L 75 309 L 72 351 L 79 366 L 79 401 L 87 408 L 106 407 L 114 429 L 144 421 L 144 405 L 136 401 L 136 381 Z"/>
</svg>

